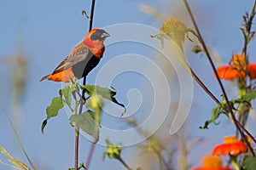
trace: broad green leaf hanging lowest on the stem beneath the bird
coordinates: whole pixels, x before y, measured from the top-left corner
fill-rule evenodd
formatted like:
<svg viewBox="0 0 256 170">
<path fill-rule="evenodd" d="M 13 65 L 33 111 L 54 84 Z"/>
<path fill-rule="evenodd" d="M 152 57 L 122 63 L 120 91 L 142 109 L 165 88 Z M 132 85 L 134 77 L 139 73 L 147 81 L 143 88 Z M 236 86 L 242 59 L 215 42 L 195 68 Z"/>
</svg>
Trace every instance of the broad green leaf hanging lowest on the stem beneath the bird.
<svg viewBox="0 0 256 170">
<path fill-rule="evenodd" d="M 88 110 L 80 115 L 70 116 L 69 121 L 78 123 L 79 127 L 85 133 L 91 135 L 95 139 L 95 142 L 97 142 L 99 139 L 100 122 L 96 121 L 95 116 L 96 112 Z"/>
</svg>

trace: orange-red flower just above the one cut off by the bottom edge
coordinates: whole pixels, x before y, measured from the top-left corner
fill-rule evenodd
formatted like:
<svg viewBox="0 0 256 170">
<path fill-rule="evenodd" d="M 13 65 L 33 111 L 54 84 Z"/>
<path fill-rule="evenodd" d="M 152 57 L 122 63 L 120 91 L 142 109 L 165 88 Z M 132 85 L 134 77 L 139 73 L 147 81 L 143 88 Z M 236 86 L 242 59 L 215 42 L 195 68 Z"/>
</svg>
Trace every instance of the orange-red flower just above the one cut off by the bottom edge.
<svg viewBox="0 0 256 170">
<path fill-rule="evenodd" d="M 237 140 L 236 136 L 228 136 L 224 138 L 224 144 L 218 144 L 213 150 L 213 156 L 227 156 L 228 154 L 232 156 L 237 156 L 241 152 L 247 151 L 247 144 L 243 143 L 241 140 Z"/>
</svg>

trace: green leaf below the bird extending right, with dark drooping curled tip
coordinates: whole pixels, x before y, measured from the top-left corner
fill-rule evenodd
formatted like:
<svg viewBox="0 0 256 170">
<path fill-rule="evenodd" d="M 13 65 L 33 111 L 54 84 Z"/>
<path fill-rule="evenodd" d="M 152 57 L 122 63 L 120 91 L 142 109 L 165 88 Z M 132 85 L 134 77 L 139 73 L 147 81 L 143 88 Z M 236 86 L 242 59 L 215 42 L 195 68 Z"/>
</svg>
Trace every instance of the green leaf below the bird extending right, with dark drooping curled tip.
<svg viewBox="0 0 256 170">
<path fill-rule="evenodd" d="M 100 86 L 96 86 L 96 85 L 84 85 L 81 86 L 82 89 L 85 89 L 86 94 L 92 96 L 93 94 L 96 95 L 100 95 L 102 96 L 103 99 L 108 99 L 110 101 L 112 101 L 113 103 L 122 106 L 125 111 L 122 113 L 122 116 L 125 114 L 126 112 L 126 108 L 125 105 L 120 104 L 115 98 L 115 94 L 116 91 L 114 88 L 112 88 L 112 90 L 110 90 L 109 88 L 102 88 Z"/>
</svg>

